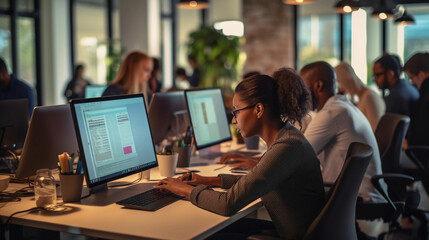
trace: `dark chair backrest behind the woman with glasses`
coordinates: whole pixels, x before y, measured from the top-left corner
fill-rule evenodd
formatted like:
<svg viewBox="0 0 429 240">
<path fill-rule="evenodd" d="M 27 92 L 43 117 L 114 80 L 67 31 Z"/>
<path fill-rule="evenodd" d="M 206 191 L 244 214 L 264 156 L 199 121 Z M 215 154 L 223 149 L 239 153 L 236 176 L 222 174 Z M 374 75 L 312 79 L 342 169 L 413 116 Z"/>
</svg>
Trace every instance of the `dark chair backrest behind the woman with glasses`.
<svg viewBox="0 0 429 240">
<path fill-rule="evenodd" d="M 357 240 L 356 200 L 372 154 L 372 148 L 366 144 L 357 142 L 350 144 L 343 168 L 332 187 L 330 197 L 308 228 L 304 239 Z"/>
</svg>

